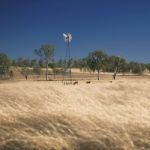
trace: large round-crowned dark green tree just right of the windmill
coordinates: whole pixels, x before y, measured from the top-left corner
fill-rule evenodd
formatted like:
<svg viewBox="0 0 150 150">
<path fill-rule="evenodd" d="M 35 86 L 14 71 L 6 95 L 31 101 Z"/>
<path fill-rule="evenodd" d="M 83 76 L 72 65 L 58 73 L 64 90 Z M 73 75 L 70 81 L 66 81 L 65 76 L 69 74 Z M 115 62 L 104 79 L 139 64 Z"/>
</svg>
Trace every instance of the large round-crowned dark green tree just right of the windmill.
<svg viewBox="0 0 150 150">
<path fill-rule="evenodd" d="M 96 50 L 89 53 L 87 58 L 87 65 L 92 71 L 97 70 L 97 79 L 99 80 L 100 70 L 103 70 L 106 64 L 107 54 L 102 50 Z"/>
</svg>

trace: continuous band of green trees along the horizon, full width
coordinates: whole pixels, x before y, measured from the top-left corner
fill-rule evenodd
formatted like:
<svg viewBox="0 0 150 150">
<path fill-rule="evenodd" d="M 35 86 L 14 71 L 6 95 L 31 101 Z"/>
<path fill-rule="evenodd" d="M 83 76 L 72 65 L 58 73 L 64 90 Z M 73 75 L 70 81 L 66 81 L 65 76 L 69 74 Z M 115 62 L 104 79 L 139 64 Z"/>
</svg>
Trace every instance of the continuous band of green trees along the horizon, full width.
<svg viewBox="0 0 150 150">
<path fill-rule="evenodd" d="M 28 74 L 29 68 L 30 70 L 32 68 L 35 74 L 40 74 L 41 69 L 45 68 L 46 65 L 53 70 L 53 73 L 57 73 L 58 70 L 63 70 L 64 67 L 67 68 L 67 66 L 71 65 L 72 68 L 80 68 L 81 71 L 97 71 L 98 76 L 100 71 L 135 74 L 142 74 L 144 71 L 150 71 L 150 63 L 128 62 L 126 59 L 118 56 L 109 56 L 102 50 L 95 50 L 89 53 L 85 58 L 72 58 L 69 61 L 65 59 L 50 59 L 48 61 L 46 58 L 47 57 L 44 57 L 44 59 L 43 57 L 39 57 L 39 59 L 30 59 L 21 57 L 18 59 L 11 59 L 6 54 L 0 53 L 0 77 L 5 78 L 11 76 L 11 74 L 13 74 L 12 70 L 10 70 L 11 66 L 21 67 L 22 74 L 24 75 Z"/>
</svg>

